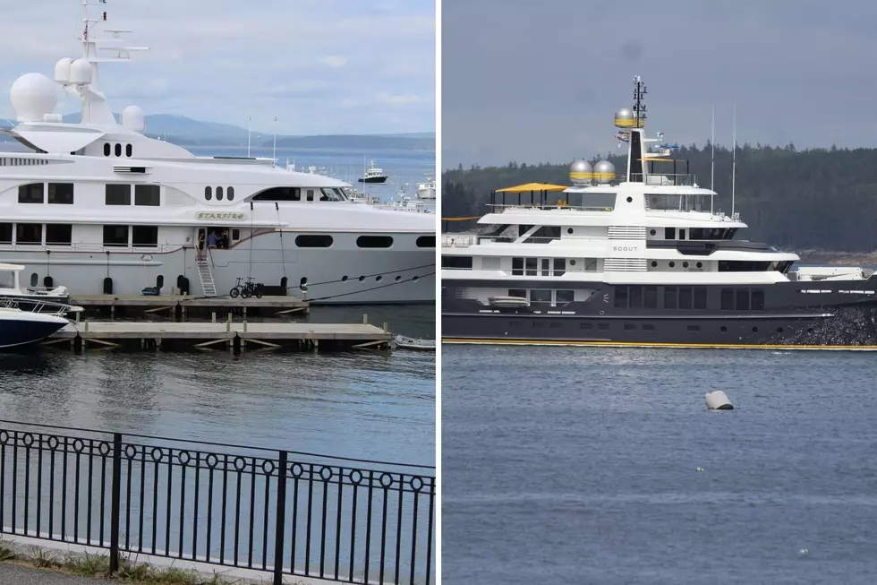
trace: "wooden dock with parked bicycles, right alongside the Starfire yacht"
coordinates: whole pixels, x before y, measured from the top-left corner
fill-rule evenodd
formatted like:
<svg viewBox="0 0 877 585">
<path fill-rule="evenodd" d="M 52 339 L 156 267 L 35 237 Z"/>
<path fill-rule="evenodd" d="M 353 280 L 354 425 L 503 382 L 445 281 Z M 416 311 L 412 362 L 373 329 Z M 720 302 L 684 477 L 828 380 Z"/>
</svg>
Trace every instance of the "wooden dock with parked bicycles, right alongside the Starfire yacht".
<svg viewBox="0 0 877 585">
<path fill-rule="evenodd" d="M 76 295 L 71 305 L 81 306 L 89 312 L 106 314 L 110 319 L 117 316 L 141 314 L 168 314 L 175 321 L 185 321 L 188 316 L 217 314 L 250 316 L 283 316 L 285 314 L 310 314 L 311 306 L 299 297 L 188 297 L 182 295 Z"/>
</svg>

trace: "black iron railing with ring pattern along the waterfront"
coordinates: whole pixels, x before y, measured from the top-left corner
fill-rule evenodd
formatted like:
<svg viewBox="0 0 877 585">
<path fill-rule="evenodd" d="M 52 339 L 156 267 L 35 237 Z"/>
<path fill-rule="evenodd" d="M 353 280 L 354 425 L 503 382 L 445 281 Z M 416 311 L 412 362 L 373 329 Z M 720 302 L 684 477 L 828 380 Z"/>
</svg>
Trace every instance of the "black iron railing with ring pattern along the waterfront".
<svg viewBox="0 0 877 585">
<path fill-rule="evenodd" d="M 63 434 L 60 434 L 63 433 Z M 435 581 L 434 468 L 0 421 L 0 531 L 347 582 Z"/>
</svg>

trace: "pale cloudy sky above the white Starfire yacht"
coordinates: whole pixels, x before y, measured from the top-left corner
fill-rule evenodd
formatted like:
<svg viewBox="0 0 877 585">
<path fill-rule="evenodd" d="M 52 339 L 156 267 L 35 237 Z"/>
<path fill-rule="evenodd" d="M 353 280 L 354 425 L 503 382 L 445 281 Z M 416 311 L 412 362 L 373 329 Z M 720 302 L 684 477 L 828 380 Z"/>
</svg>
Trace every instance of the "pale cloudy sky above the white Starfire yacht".
<svg viewBox="0 0 877 585">
<path fill-rule="evenodd" d="M 22 73 L 81 56 L 81 2 L 4 2 L 0 115 Z M 433 0 L 108 0 L 111 28 L 148 46 L 103 65 L 117 112 L 180 114 L 281 133 L 435 129 Z M 68 99 L 65 112 L 79 111 Z"/>
</svg>

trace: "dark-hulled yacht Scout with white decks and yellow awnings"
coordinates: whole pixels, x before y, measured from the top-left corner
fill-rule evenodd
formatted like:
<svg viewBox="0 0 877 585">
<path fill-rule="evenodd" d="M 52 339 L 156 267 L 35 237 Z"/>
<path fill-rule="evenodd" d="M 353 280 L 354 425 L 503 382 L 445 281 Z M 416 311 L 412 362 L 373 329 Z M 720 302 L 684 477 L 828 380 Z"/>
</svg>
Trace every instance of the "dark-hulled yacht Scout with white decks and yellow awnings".
<svg viewBox="0 0 877 585">
<path fill-rule="evenodd" d="M 676 147 L 646 148 L 661 137 L 643 132 L 644 93 L 635 78 L 616 115 L 620 182 L 608 161 L 578 160 L 562 193 L 496 193 L 481 233 L 442 236 L 442 340 L 877 349 L 873 271 L 791 271 L 796 254 L 735 240 L 746 224 L 713 210 Z"/>
</svg>

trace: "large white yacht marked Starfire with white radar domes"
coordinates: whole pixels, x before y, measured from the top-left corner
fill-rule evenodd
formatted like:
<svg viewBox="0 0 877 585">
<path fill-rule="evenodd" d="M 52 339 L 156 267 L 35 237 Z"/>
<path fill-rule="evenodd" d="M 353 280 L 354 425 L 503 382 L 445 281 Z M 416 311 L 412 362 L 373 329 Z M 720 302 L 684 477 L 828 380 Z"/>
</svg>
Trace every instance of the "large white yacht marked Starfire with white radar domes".
<svg viewBox="0 0 877 585">
<path fill-rule="evenodd" d="M 0 262 L 23 265 L 25 284 L 214 297 L 251 276 L 315 303 L 435 300 L 435 216 L 351 202 L 346 183 L 274 159 L 196 157 L 144 135 L 137 107 L 117 123 L 98 64 L 143 47 L 104 28 L 106 0 L 81 4 L 82 56 L 11 90 L 18 124 L 3 132 L 26 151 L 0 152 Z M 79 124 L 54 113 L 62 89 Z"/>
</svg>

